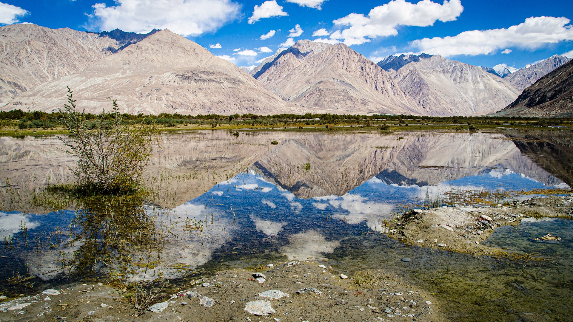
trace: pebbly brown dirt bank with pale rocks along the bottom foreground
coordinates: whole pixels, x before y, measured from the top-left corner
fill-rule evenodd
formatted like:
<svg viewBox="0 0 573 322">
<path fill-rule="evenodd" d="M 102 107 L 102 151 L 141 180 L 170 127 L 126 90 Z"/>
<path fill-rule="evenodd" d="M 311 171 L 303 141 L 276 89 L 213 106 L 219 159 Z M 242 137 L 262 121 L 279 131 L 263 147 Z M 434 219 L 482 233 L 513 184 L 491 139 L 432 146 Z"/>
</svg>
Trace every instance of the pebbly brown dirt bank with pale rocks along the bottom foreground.
<svg viewBox="0 0 573 322">
<path fill-rule="evenodd" d="M 58 295 L 40 293 L 2 303 L 0 321 L 447 321 L 433 297 L 381 270 L 343 279 L 327 262 L 303 261 L 258 272 L 266 277 L 262 284 L 254 279 L 254 270 L 227 270 L 202 278 L 172 299 L 163 299 L 166 308 L 159 313 L 138 312 L 109 286 L 76 285 Z M 259 295 L 267 290 L 288 296 Z M 249 302 L 257 300 L 268 301 L 275 313 L 257 316 L 245 311 Z M 25 303 L 30 304 L 10 309 Z"/>
</svg>

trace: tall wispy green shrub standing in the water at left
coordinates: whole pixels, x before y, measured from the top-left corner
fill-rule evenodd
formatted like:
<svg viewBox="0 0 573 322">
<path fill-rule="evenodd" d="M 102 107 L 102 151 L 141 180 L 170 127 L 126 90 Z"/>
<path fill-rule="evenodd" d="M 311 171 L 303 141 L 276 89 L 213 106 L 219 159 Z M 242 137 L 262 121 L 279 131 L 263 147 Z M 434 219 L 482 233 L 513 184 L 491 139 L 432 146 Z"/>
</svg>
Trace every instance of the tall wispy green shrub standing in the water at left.
<svg viewBox="0 0 573 322">
<path fill-rule="evenodd" d="M 99 121 L 88 121 L 84 111 L 77 111 L 68 87 L 68 104 L 60 109 L 60 122 L 70 133 L 58 139 L 78 159 L 73 174 L 80 189 L 103 194 L 131 193 L 140 188 L 143 170 L 152 154 L 155 128 L 124 125 L 116 100 L 110 100 L 111 113 L 104 110 Z"/>
</svg>

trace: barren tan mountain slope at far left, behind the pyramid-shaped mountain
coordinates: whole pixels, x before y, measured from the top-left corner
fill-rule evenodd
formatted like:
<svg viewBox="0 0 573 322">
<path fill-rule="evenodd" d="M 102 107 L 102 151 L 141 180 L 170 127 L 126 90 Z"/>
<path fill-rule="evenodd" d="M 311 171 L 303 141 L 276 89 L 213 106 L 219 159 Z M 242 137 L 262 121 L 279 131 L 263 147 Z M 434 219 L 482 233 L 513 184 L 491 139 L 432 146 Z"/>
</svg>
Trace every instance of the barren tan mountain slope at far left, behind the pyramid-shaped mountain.
<svg viewBox="0 0 573 322">
<path fill-rule="evenodd" d="M 81 72 L 117 47 L 112 38 L 69 28 L 0 27 L 0 106 L 46 81 Z"/>
</svg>

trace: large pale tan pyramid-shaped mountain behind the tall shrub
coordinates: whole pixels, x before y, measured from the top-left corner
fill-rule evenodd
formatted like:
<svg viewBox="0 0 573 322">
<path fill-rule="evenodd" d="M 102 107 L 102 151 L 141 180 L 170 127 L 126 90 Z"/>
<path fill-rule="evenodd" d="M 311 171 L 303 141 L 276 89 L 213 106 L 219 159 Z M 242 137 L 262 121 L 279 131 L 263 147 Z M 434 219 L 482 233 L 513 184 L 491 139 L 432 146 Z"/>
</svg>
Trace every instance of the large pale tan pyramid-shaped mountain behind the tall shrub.
<svg viewBox="0 0 573 322">
<path fill-rule="evenodd" d="M 73 89 L 79 107 L 94 113 L 109 109 L 106 97 L 117 99 L 122 112 L 153 115 L 304 112 L 236 65 L 167 29 L 79 73 L 41 84 L 2 109 L 56 111 L 66 101 L 66 85 Z"/>
</svg>

